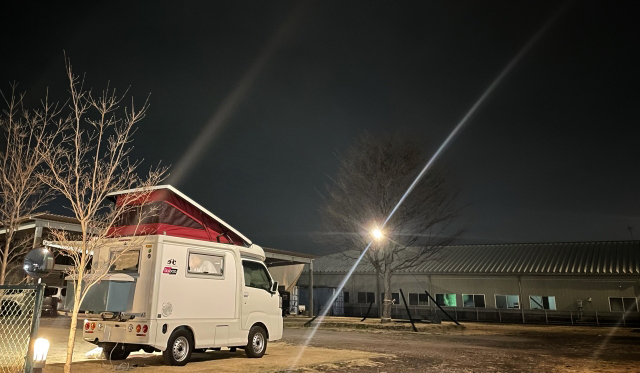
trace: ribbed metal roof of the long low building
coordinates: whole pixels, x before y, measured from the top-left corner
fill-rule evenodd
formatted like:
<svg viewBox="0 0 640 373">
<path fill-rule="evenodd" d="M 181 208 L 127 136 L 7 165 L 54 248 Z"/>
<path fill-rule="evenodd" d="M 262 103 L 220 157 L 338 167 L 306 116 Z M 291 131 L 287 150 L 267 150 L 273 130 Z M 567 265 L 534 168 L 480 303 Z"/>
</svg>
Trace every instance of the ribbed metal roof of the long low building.
<svg viewBox="0 0 640 373">
<path fill-rule="evenodd" d="M 315 273 L 346 273 L 354 259 L 338 253 L 314 261 Z M 358 273 L 374 273 L 363 260 Z M 640 241 L 461 245 L 399 273 L 640 275 Z"/>
</svg>

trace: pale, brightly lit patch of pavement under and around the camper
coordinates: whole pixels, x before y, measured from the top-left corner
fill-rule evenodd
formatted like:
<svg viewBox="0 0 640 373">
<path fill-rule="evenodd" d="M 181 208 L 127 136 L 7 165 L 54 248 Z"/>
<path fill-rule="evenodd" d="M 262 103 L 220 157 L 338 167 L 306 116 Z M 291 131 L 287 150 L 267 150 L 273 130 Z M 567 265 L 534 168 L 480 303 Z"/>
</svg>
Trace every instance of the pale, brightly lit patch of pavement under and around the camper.
<svg viewBox="0 0 640 373">
<path fill-rule="evenodd" d="M 60 373 L 66 358 L 67 340 L 69 333 L 68 318 L 42 319 L 39 336 L 47 338 L 51 343 L 47 356 L 47 366 L 44 373 Z M 104 373 L 105 370 L 135 369 L 141 373 L 175 372 L 273 372 L 284 371 L 291 368 L 293 361 L 298 356 L 301 347 L 283 342 L 270 343 L 267 353 L 261 359 L 249 359 L 243 350 L 237 352 L 209 351 L 193 354 L 192 361 L 186 367 L 170 367 L 164 365 L 159 353 L 146 354 L 136 352 L 123 361 L 114 362 L 111 365 L 103 359 L 90 359 L 85 353 L 95 348 L 91 343 L 82 339 L 82 329 L 76 331 L 76 345 L 74 348 L 73 370 L 81 373 Z M 349 349 L 333 350 L 328 348 L 311 347 L 305 350 L 303 359 L 297 368 L 305 368 L 318 365 L 356 367 L 371 364 L 371 359 L 385 356 L 384 354 L 367 351 L 354 351 Z M 124 365 L 120 365 L 124 364 Z"/>
</svg>

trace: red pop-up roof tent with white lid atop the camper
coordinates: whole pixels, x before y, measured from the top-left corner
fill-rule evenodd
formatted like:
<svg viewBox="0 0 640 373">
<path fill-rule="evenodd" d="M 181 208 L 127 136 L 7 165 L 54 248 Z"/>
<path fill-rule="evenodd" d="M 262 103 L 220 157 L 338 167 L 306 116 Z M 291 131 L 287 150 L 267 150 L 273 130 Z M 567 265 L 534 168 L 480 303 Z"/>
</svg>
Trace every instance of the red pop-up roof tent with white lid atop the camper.
<svg viewBox="0 0 640 373">
<path fill-rule="evenodd" d="M 144 193 L 144 198 L 125 198 Z M 148 193 L 148 194 L 147 194 Z M 166 234 L 249 247 L 251 241 L 171 185 L 130 189 L 109 194 L 127 209 L 110 229 L 111 236 Z"/>
</svg>

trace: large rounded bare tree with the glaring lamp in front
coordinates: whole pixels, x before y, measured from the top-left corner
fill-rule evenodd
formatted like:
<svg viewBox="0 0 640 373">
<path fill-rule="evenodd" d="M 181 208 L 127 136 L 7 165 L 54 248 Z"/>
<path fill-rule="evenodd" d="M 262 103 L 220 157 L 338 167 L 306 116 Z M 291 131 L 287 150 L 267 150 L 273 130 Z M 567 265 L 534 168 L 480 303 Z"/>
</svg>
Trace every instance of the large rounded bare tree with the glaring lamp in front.
<svg viewBox="0 0 640 373">
<path fill-rule="evenodd" d="M 423 148 L 400 135 L 364 133 L 346 156 L 338 156 L 337 176 L 320 208 L 333 247 L 356 258 L 371 243 L 363 258 L 383 277 L 383 322 L 391 319 L 393 273 L 434 259 L 462 232 L 454 224 L 461 212 L 457 193 L 442 169 L 424 175 L 396 209 L 425 165 Z"/>
</svg>

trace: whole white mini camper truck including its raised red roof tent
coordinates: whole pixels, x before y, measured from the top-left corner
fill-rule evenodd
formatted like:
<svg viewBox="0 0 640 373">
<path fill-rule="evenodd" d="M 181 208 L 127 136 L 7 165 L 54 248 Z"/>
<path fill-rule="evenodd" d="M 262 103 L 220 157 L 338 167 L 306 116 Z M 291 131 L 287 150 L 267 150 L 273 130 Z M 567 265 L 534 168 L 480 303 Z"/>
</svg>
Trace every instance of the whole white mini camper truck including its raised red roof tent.
<svg viewBox="0 0 640 373">
<path fill-rule="evenodd" d="M 135 191 L 110 196 L 118 203 Z M 94 252 L 94 262 L 114 263 L 80 307 L 90 315 L 84 339 L 111 360 L 142 349 L 185 365 L 194 351 L 222 347 L 262 357 L 283 327 L 262 248 L 171 186 L 153 188 L 138 213 L 150 207 L 158 213 L 133 231 L 123 217 L 113 243 Z"/>
</svg>

